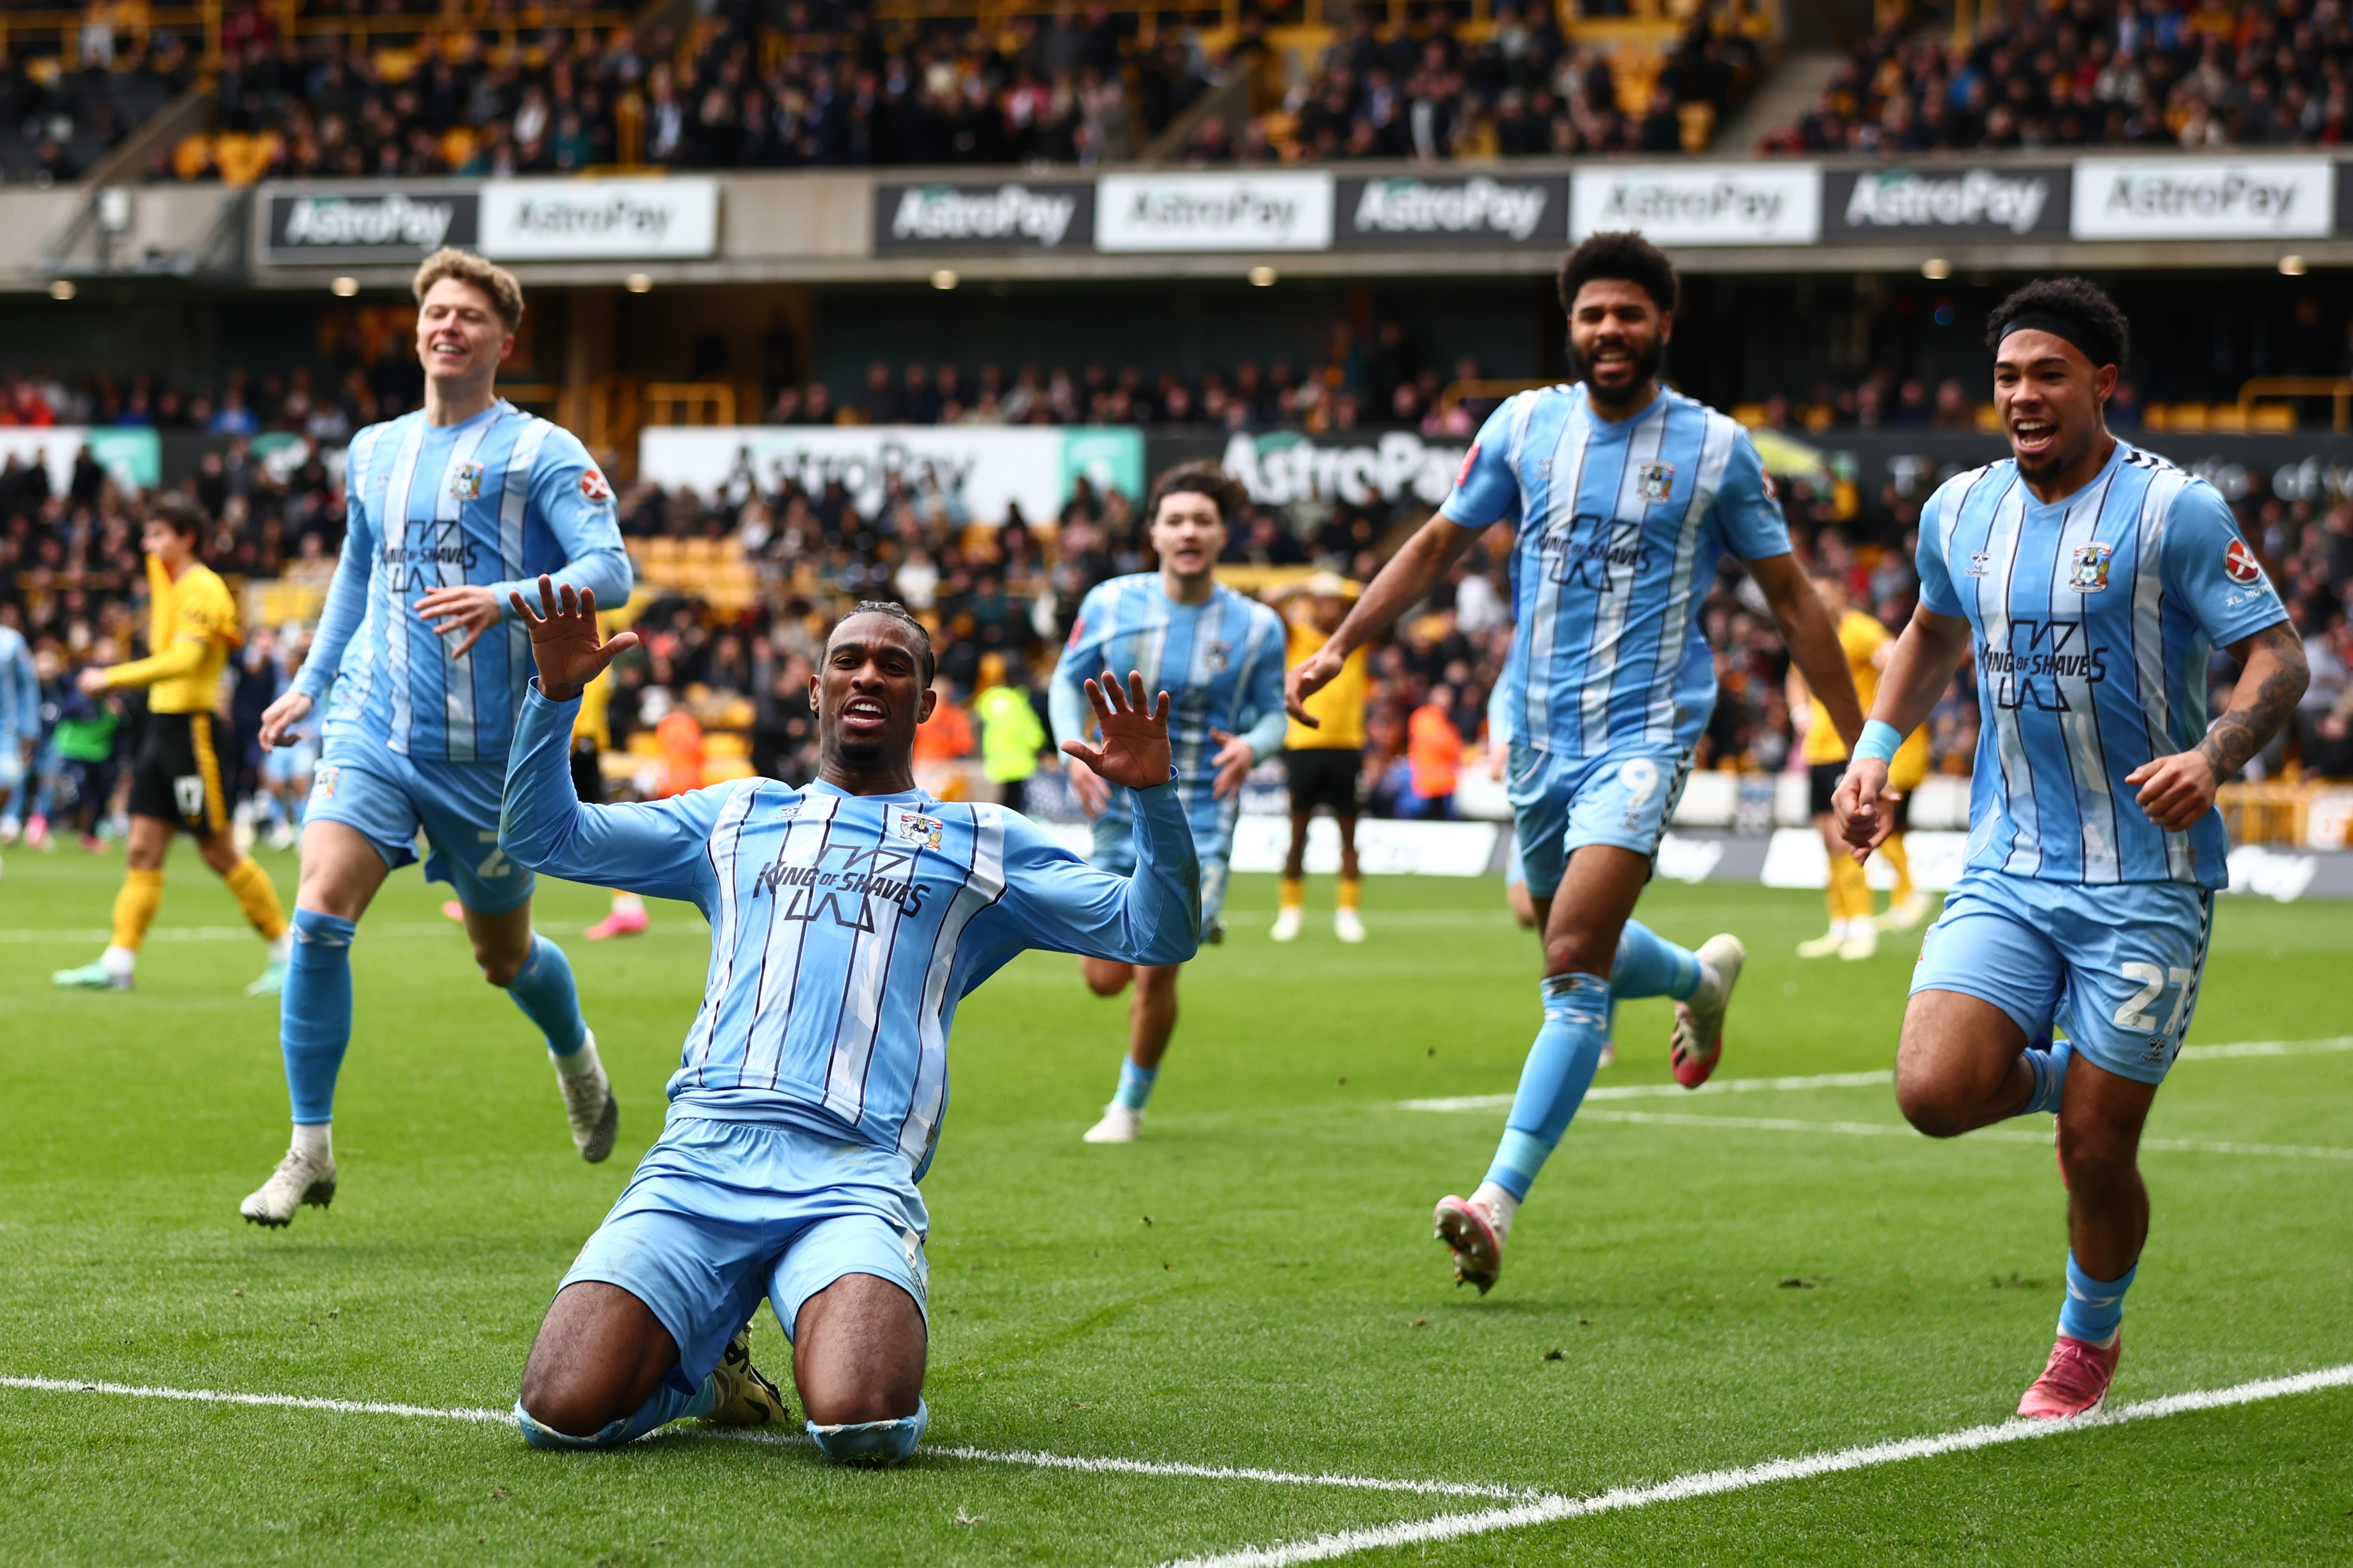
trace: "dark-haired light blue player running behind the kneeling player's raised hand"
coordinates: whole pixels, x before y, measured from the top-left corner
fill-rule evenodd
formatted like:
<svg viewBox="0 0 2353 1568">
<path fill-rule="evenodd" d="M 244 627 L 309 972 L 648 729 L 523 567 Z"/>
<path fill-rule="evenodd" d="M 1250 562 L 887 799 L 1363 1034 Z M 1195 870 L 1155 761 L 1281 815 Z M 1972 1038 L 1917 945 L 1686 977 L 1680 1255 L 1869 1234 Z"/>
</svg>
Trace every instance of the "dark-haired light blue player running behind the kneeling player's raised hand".
<svg viewBox="0 0 2353 1568">
<path fill-rule="evenodd" d="M 1226 935 L 1217 916 L 1226 904 L 1242 779 L 1282 746 L 1282 617 L 1217 582 L 1226 527 L 1245 506 L 1249 492 L 1212 461 L 1176 464 L 1162 473 L 1146 509 L 1160 570 L 1113 577 L 1087 593 L 1047 692 L 1064 751 L 1087 739 L 1082 683 L 1094 671 L 1136 669 L 1153 690 L 1176 695 L 1169 744 L 1200 855 L 1205 942 Z M 1092 864 L 1125 876 L 1134 869 L 1127 798 L 1104 789 L 1082 753 L 1071 751 L 1068 768 L 1078 803 L 1094 817 Z M 1129 979 L 1136 984 L 1120 1088 L 1104 1118 L 1087 1128 L 1089 1144 L 1132 1144 L 1160 1076 L 1160 1057 L 1176 1034 L 1176 965 L 1087 958 L 1082 970 L 1096 996 L 1118 996 Z"/>
</svg>

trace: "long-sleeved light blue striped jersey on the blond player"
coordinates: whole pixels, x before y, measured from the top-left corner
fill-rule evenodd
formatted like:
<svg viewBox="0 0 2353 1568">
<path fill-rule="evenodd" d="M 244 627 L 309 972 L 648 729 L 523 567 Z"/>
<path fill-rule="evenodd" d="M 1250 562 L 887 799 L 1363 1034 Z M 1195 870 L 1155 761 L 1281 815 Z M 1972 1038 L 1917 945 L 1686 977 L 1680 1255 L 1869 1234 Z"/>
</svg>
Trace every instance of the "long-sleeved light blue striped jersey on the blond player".
<svg viewBox="0 0 2353 1568">
<path fill-rule="evenodd" d="M 539 574 L 628 600 L 612 487 L 569 431 L 504 398 L 464 424 L 424 410 L 351 438 L 344 558 L 294 690 L 329 695 L 327 739 L 365 739 L 419 763 L 501 763 L 515 730 L 532 638 L 506 603 L 539 605 Z M 464 659 L 416 614 L 442 586 L 499 596 L 501 626 Z"/>
</svg>

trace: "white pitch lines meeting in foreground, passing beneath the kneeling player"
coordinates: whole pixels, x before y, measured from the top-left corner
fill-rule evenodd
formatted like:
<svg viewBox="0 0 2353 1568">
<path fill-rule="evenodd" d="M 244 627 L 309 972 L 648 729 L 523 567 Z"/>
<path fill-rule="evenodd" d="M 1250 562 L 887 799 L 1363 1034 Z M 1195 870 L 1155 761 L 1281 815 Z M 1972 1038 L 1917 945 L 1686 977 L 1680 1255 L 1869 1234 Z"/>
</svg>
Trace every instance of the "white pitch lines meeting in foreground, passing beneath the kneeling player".
<svg viewBox="0 0 2353 1568">
<path fill-rule="evenodd" d="M 1995 1448 L 2002 1443 L 2024 1443 L 2031 1439 L 2097 1431 L 2104 1427 L 2120 1427 L 2125 1422 L 2158 1420 L 2167 1415 L 2184 1415 L 2191 1410 L 2219 1410 L 2226 1406 L 2249 1406 L 2268 1398 L 2285 1398 L 2289 1394 L 2313 1394 L 2320 1389 L 2339 1389 L 2339 1387 L 2353 1387 L 2353 1363 L 2332 1366 L 2315 1373 L 2297 1373 L 2292 1377 L 2264 1377 L 2257 1382 L 2233 1384 L 2228 1389 L 2198 1389 L 2191 1394 L 2144 1398 L 2129 1406 L 2115 1406 L 2108 1410 L 2099 1410 L 2094 1415 L 2082 1415 L 2071 1422 L 2007 1420 L 1988 1427 L 1962 1427 L 1960 1431 L 1944 1431 L 1932 1436 L 1859 1443 L 1854 1448 L 1800 1455 L 1793 1460 L 1765 1460 L 1762 1464 L 1692 1471 L 1649 1486 L 1619 1486 L 1591 1497 L 1562 1497 L 1553 1493 L 1537 1493 L 1529 1488 L 1471 1486 L 1461 1481 L 1405 1481 L 1405 1479 L 1379 1479 L 1379 1476 L 1294 1474 L 1280 1469 L 1249 1469 L 1231 1464 L 1106 1460 L 1106 1457 L 1056 1455 L 1038 1450 L 932 1448 L 927 1453 L 932 1457 L 948 1457 L 948 1460 L 972 1460 L 984 1464 L 1021 1464 L 1033 1469 L 1068 1469 L 1082 1474 L 1179 1476 L 1191 1481 L 1264 1481 L 1278 1486 L 1332 1486 L 1348 1490 L 1419 1493 L 1435 1497 L 1494 1497 L 1511 1502 L 1511 1507 L 1482 1509 L 1478 1514 L 1438 1514 L 1435 1519 L 1409 1519 L 1393 1526 L 1339 1530 L 1318 1535 L 1315 1540 L 1289 1542 L 1278 1547 L 1245 1547 L 1240 1552 L 1181 1559 L 1162 1566 L 1162 1568 L 1289 1568 L 1292 1563 L 1320 1563 L 1337 1556 L 1351 1556 L 1355 1552 L 1374 1552 L 1381 1547 L 1447 1542 L 1447 1540 L 1461 1540 L 1466 1535 L 1522 1530 L 1529 1526 L 1558 1523 L 1565 1519 L 1584 1519 L 1591 1514 L 1621 1514 L 1628 1509 L 1642 1509 L 1659 1502 L 1718 1497 L 1725 1493 L 1741 1493 L 1758 1486 L 1774 1486 L 1781 1481 L 1809 1481 L 1814 1476 L 1833 1476 L 1842 1471 L 1873 1469 L 1880 1464 L 1899 1464 L 1904 1460 L 1929 1460 L 1948 1453 L 1969 1453 L 1977 1448 Z M 226 1389 L 165 1389 L 151 1384 L 94 1382 L 78 1377 L 0 1377 L 0 1389 L 26 1389 L 40 1394 L 113 1394 L 127 1398 L 162 1398 L 179 1403 L 259 1406 L 278 1410 L 320 1410 L 332 1415 L 393 1415 L 393 1417 L 447 1420 L 468 1424 L 504 1424 L 513 1420 L 513 1415 L 506 1410 L 485 1410 L 468 1406 L 409 1406 L 409 1403 L 374 1401 L 374 1398 L 238 1394 Z M 753 1436 L 767 1441 L 793 1441 L 786 1434 L 765 1434 L 765 1431 L 713 1431 L 711 1436 Z"/>
</svg>

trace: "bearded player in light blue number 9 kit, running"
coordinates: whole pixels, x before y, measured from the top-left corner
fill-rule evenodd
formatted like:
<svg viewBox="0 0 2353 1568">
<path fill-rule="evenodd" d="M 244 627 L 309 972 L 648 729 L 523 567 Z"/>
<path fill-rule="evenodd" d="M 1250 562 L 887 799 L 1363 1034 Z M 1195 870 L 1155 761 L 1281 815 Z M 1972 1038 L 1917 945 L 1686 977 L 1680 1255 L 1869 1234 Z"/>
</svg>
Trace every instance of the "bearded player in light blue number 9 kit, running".
<svg viewBox="0 0 2353 1568">
<path fill-rule="evenodd" d="M 1306 720 L 1306 697 L 1473 539 L 1499 520 L 1518 530 L 1518 624 L 1501 676 L 1515 709 L 1506 791 L 1544 925 L 1544 1029 L 1487 1180 L 1435 1210 L 1454 1276 L 1482 1295 L 1520 1201 L 1593 1083 L 1612 998 L 1680 1003 L 1668 1059 L 1685 1088 L 1722 1055 L 1748 956 L 1739 937 L 1708 937 L 1692 954 L 1628 916 L 1715 706 L 1699 612 L 1725 551 L 1748 563 L 1838 730 L 1852 739 L 1864 725 L 1755 447 L 1725 414 L 1659 384 L 1675 287 L 1675 264 L 1638 233 L 1600 233 L 1569 254 L 1560 304 L 1584 381 L 1508 398 L 1438 516 L 1289 676 L 1292 718 Z"/>
</svg>

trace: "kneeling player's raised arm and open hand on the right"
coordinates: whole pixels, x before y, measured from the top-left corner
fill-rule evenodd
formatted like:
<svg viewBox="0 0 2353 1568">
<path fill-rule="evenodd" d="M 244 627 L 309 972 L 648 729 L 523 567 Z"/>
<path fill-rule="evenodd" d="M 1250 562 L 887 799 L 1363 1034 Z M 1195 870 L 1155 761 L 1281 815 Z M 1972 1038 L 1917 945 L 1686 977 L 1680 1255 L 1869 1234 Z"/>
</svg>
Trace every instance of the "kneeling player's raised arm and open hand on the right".
<svg viewBox="0 0 2353 1568">
<path fill-rule="evenodd" d="M 1158 704 L 1146 706 L 1144 678 L 1129 671 L 1125 692 L 1108 676 L 1087 680 L 1087 702 L 1104 744 L 1064 742 L 1064 751 L 1108 784 L 1134 791 L 1136 871 L 1099 871 L 1026 817 L 1007 815 L 998 909 L 1009 925 L 998 963 L 1024 946 L 1118 963 L 1184 963 L 1200 949 L 1200 859 L 1169 779 L 1169 697 L 1160 692 Z"/>
</svg>

